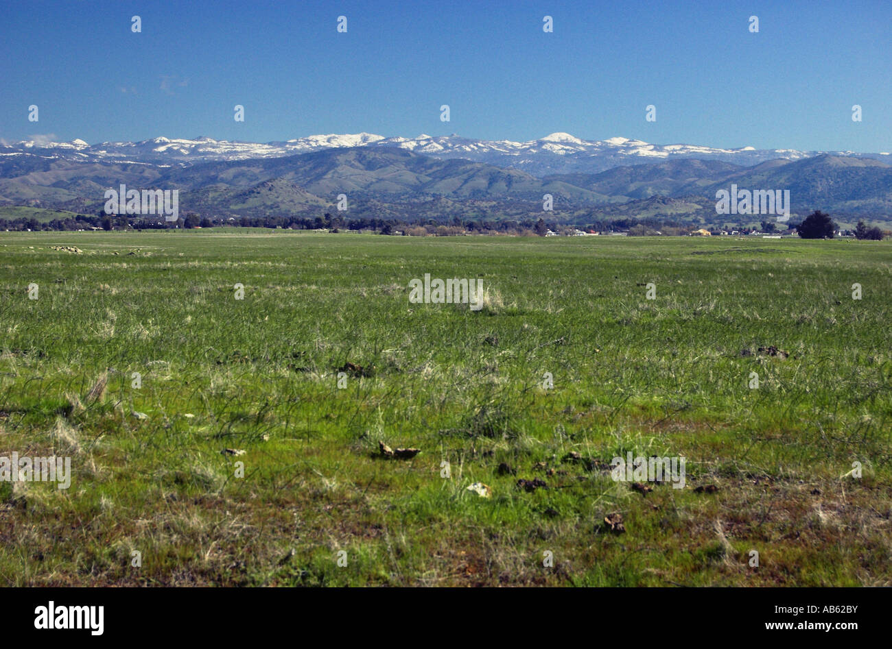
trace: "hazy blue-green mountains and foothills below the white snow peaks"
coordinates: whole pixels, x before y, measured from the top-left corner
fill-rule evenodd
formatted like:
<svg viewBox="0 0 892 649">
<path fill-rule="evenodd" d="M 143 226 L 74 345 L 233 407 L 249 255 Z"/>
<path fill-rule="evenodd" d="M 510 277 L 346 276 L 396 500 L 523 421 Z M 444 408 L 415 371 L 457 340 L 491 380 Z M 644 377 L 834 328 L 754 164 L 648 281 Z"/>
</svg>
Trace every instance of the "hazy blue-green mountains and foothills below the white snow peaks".
<svg viewBox="0 0 892 649">
<path fill-rule="evenodd" d="M 598 165 L 590 164 L 587 171 L 566 171 L 574 165 L 564 165 L 559 173 L 534 174 L 530 165 L 473 160 L 475 156 L 467 151 L 458 155 L 458 140 L 450 141 L 448 154 L 434 155 L 412 150 L 428 146 L 426 139 L 412 140 L 409 145 L 409 141 L 384 144 L 387 138 L 369 134 L 344 137 L 314 136 L 286 143 L 311 149 L 308 152 L 281 156 L 242 151 L 234 160 L 204 160 L 206 152 L 201 147 L 221 146 L 210 138 L 189 141 L 197 143 L 195 150 L 161 138 L 127 144 L 133 147 L 131 152 L 145 150 L 151 155 L 144 152 L 121 159 L 85 153 L 90 145 L 77 141 L 57 148 L 6 147 L 0 149 L 0 206 L 95 214 L 102 209 L 106 189 L 126 184 L 177 189 L 181 210 L 227 218 L 335 211 L 337 196 L 345 194 L 350 208 L 344 216 L 348 218 L 366 210 L 434 219 L 488 215 L 576 219 L 598 214 L 635 218 L 639 214 L 711 223 L 724 220 L 715 213 L 716 192 L 737 185 L 748 190 L 789 190 L 794 215 L 825 209 L 852 218 L 892 220 L 892 166 L 880 154 L 874 158 L 823 153 L 739 164 L 721 160 L 718 150 L 710 150 L 712 158 L 690 157 L 695 147 L 661 150 L 657 157 L 653 149 L 616 140 L 608 143 L 610 155 L 625 155 L 624 164 L 600 170 L 591 170 Z M 497 160 L 507 160 L 498 156 L 508 156 L 513 144 L 502 143 L 502 151 L 490 153 Z M 537 151 L 530 154 L 533 159 L 536 155 L 543 155 L 541 160 L 595 155 L 591 143 L 567 134 L 526 144 L 530 143 L 524 143 L 524 150 Z M 262 146 L 270 147 L 268 152 L 275 149 L 271 144 Z M 637 151 L 635 147 L 645 153 L 620 153 Z M 480 158 L 489 155 L 477 153 Z M 149 160 L 152 156 L 155 161 Z M 220 156 L 217 151 L 211 157 Z M 131 160 L 134 157 L 144 160 Z M 186 160 L 178 160 L 182 157 Z M 541 162 L 539 168 L 549 166 L 556 165 Z M 553 197 L 554 204 L 554 211 L 547 214 L 542 210 L 545 194 Z"/>
</svg>

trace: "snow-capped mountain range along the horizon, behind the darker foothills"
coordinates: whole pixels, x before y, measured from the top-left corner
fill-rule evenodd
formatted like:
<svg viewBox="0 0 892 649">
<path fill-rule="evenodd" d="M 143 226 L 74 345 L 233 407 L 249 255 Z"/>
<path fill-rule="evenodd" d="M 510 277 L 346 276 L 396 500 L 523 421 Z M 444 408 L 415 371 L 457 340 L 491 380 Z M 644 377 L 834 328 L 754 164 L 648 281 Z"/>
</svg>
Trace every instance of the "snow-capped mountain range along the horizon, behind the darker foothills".
<svg viewBox="0 0 892 649">
<path fill-rule="evenodd" d="M 462 136 L 384 137 L 370 133 L 306 136 L 293 140 L 257 144 L 214 140 L 211 137 L 169 139 L 153 137 L 141 142 L 23 141 L 0 146 L 0 156 L 20 153 L 66 160 L 144 162 L 155 165 L 189 165 L 202 161 L 278 158 L 323 149 L 357 146 L 398 147 L 434 158 L 464 158 L 507 168 L 522 169 L 534 176 L 555 173 L 594 173 L 608 168 L 673 159 L 723 160 L 752 166 L 766 160 L 801 160 L 822 153 L 889 160 L 888 152 L 803 152 L 793 149 L 716 149 L 694 144 L 648 144 L 641 140 L 611 137 L 583 140 L 568 133 L 552 133 L 528 142 L 477 140 Z"/>
</svg>

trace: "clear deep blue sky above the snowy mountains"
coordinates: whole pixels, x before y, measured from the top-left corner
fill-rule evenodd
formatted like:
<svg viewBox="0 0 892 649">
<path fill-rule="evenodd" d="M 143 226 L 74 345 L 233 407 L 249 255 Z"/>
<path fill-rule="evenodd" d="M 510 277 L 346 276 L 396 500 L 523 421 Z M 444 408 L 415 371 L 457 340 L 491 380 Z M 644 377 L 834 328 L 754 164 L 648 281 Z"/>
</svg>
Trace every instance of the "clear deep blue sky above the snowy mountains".
<svg viewBox="0 0 892 649">
<path fill-rule="evenodd" d="M 889 0 L 2 5 L 7 141 L 566 131 L 892 151 Z M 134 15 L 141 33 L 130 29 Z M 339 15 L 347 33 L 336 31 Z M 545 15 L 553 33 L 542 31 Z M 244 122 L 233 119 L 235 104 Z M 644 119 L 648 104 L 656 122 Z"/>
</svg>

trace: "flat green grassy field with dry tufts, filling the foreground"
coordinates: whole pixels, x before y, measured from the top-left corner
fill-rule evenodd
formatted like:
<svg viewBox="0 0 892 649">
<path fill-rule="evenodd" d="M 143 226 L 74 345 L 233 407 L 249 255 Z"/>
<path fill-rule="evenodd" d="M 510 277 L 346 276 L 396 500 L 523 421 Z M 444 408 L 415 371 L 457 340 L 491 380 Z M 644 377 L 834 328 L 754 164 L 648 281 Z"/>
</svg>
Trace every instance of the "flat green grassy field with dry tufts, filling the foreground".
<svg viewBox="0 0 892 649">
<path fill-rule="evenodd" d="M 892 585 L 890 264 L 889 242 L 0 234 L 0 456 L 72 467 L 0 482 L 0 584 Z M 482 279 L 483 308 L 410 303 L 425 273 Z M 685 457 L 684 489 L 614 481 L 628 452 Z"/>
</svg>

